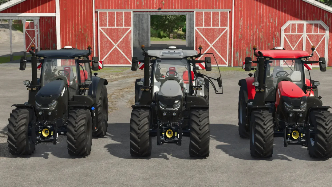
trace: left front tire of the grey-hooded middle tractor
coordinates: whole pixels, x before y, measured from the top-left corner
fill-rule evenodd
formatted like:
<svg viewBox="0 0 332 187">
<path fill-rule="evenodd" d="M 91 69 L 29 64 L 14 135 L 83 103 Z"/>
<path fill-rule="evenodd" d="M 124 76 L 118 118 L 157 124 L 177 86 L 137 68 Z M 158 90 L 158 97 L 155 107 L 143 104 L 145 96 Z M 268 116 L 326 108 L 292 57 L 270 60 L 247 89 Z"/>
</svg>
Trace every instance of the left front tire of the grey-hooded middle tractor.
<svg viewBox="0 0 332 187">
<path fill-rule="evenodd" d="M 133 109 L 130 117 L 130 154 L 136 157 L 151 155 L 150 110 Z"/>
</svg>

